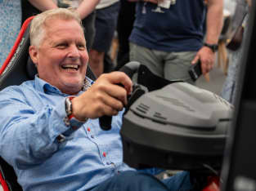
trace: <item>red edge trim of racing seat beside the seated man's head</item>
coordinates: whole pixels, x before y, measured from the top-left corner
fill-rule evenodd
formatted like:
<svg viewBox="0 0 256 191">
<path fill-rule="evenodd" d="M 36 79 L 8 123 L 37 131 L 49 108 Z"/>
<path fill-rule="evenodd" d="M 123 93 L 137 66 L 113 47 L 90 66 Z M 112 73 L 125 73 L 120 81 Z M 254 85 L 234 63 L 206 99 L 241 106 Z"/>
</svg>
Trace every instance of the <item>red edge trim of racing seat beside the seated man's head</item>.
<svg viewBox="0 0 256 191">
<path fill-rule="evenodd" d="M 16 42 L 14 43 L 11 52 L 7 56 L 7 59 L 5 62 L 2 64 L 2 67 L 0 68 L 0 75 L 3 73 L 3 71 L 7 68 L 7 65 L 10 63 L 12 56 L 16 52 L 17 47 L 19 47 L 20 41 L 23 38 L 23 35 L 25 33 L 25 30 L 27 29 L 30 21 L 34 18 L 34 16 L 30 16 L 27 20 L 25 20 L 24 24 L 22 24 L 22 27 L 20 29 L 20 33 L 18 37 L 16 38 Z"/>
</svg>

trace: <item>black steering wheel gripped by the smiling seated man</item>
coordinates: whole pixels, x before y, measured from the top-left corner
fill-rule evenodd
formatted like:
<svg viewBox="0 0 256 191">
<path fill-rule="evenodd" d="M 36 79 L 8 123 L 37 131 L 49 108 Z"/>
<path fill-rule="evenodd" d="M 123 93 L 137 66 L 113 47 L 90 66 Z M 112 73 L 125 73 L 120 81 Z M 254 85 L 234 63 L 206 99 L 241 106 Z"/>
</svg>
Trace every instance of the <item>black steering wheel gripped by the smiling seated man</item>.
<svg viewBox="0 0 256 191">
<path fill-rule="evenodd" d="M 129 78 L 132 78 L 134 73 L 138 73 L 140 66 L 140 63 L 133 61 L 125 64 L 119 71 L 126 73 Z M 119 86 L 123 87 L 122 84 L 119 84 Z M 137 84 L 133 85 L 132 90 L 132 94 L 128 96 L 128 105 L 126 106 L 126 110 L 135 100 L 137 100 L 137 98 L 139 98 L 146 92 L 146 88 L 143 89 L 140 85 Z M 102 130 L 108 131 L 111 129 L 111 116 L 102 116 L 99 121 Z"/>
</svg>

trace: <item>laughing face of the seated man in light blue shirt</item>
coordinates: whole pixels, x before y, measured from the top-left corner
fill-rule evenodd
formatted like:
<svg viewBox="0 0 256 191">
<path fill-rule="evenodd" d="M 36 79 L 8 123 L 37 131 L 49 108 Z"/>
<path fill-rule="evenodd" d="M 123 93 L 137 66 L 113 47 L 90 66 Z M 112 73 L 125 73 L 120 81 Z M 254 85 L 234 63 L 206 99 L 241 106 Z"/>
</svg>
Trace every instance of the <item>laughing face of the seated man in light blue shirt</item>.
<svg viewBox="0 0 256 191">
<path fill-rule="evenodd" d="M 83 29 L 76 20 L 47 20 L 39 47 L 29 47 L 39 78 L 67 94 L 81 90 L 88 65 Z"/>
</svg>

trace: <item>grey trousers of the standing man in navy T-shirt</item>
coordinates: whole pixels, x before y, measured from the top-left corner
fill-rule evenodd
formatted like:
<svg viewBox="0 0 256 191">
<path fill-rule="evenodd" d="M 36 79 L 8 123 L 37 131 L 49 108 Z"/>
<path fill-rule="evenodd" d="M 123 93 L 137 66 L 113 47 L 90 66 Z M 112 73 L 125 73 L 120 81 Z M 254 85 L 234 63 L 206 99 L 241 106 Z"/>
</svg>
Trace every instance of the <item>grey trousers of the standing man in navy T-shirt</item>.
<svg viewBox="0 0 256 191">
<path fill-rule="evenodd" d="M 188 73 L 195 55 L 196 51 L 156 51 L 130 42 L 130 61 L 138 61 L 146 65 L 152 73 L 168 80 L 195 84 Z"/>
</svg>

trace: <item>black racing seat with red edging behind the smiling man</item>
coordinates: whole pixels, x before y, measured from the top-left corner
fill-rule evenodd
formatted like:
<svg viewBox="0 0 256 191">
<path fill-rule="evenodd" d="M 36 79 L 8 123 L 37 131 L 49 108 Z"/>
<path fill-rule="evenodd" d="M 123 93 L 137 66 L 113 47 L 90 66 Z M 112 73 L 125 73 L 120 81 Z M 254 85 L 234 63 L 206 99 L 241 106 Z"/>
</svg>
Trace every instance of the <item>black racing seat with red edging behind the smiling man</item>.
<svg viewBox="0 0 256 191">
<path fill-rule="evenodd" d="M 20 85 L 22 82 L 34 79 L 34 75 L 37 73 L 37 69 L 29 57 L 29 26 L 33 17 L 31 16 L 25 20 L 15 44 L 7 56 L 7 60 L 0 68 L 0 91 L 5 87 Z M 89 66 L 86 75 L 88 78 L 96 80 Z M 17 182 L 15 171 L 1 156 L 0 183 L 4 191 L 22 191 L 20 184 Z"/>
</svg>

